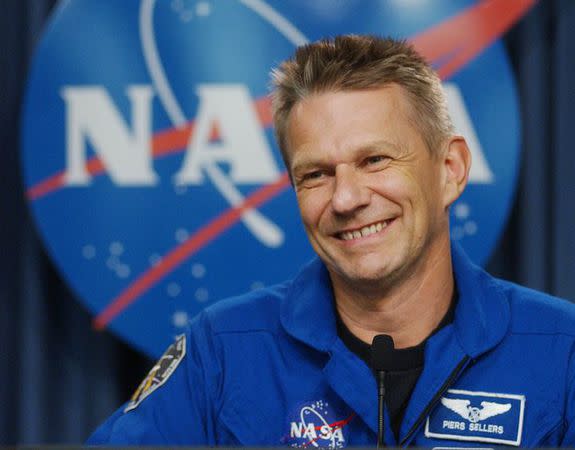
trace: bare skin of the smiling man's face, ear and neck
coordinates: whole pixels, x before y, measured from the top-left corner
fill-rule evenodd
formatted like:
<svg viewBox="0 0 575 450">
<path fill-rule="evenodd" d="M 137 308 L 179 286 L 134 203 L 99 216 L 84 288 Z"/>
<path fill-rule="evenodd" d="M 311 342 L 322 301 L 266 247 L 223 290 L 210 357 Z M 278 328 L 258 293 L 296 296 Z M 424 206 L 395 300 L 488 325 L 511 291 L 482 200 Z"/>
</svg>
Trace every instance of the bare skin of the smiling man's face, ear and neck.
<svg viewBox="0 0 575 450">
<path fill-rule="evenodd" d="M 461 137 L 428 148 L 416 114 L 397 83 L 334 87 L 299 101 L 280 138 L 343 323 L 366 342 L 390 334 L 397 347 L 419 344 L 449 308 L 448 207 L 470 164 Z"/>
</svg>

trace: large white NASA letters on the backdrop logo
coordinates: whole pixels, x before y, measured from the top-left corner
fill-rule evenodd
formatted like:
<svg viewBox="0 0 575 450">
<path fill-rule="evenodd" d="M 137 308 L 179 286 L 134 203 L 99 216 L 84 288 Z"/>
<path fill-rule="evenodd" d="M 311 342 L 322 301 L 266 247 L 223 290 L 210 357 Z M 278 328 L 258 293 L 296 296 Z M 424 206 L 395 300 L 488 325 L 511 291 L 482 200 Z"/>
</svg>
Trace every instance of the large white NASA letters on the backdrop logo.
<svg viewBox="0 0 575 450">
<path fill-rule="evenodd" d="M 466 136 L 473 164 L 469 182 L 490 184 L 494 175 L 459 87 L 444 84 L 455 128 Z M 229 177 L 237 184 L 264 184 L 279 177 L 279 169 L 243 85 L 199 85 L 199 108 L 195 131 L 188 142 L 184 163 L 175 176 L 178 184 L 202 184 L 202 169 L 216 162 L 230 167 Z M 152 88 L 132 85 L 126 89 L 132 113 L 132 129 L 125 123 L 110 95 L 101 86 L 68 86 L 62 89 L 66 103 L 65 183 L 85 186 L 91 181 L 86 167 L 86 141 L 100 157 L 110 178 L 120 186 L 154 186 L 151 152 Z M 211 142 L 214 125 L 220 141 Z"/>
</svg>

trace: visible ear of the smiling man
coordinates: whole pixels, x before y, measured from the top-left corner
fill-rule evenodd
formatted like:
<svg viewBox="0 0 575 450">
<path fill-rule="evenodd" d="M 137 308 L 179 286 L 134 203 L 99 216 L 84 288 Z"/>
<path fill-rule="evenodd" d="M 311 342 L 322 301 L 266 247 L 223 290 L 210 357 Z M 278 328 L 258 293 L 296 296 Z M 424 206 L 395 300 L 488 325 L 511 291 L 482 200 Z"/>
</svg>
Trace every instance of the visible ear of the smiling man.
<svg viewBox="0 0 575 450">
<path fill-rule="evenodd" d="M 467 186 L 471 168 L 471 152 L 462 136 L 452 136 L 447 142 L 443 166 L 445 170 L 443 206 L 447 209 Z"/>
</svg>

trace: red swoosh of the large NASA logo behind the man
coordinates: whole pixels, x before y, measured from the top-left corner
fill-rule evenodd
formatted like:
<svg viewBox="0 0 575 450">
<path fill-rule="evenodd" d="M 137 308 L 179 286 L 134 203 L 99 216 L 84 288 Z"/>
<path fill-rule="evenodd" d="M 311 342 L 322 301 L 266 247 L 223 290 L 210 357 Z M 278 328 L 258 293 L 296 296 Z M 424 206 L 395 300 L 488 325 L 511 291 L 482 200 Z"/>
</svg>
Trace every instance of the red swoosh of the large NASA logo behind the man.
<svg viewBox="0 0 575 450">
<path fill-rule="evenodd" d="M 536 0 L 484 0 L 414 36 L 410 41 L 429 61 L 441 62 L 436 68 L 441 79 L 445 80 L 487 48 L 535 3 Z M 262 97 L 255 102 L 255 106 L 262 126 L 271 126 L 269 99 Z M 194 122 L 191 121 L 186 127 L 156 133 L 152 141 L 154 157 L 182 152 L 193 133 L 193 127 Z M 104 172 L 98 158 L 90 159 L 87 169 L 92 175 Z M 63 182 L 64 173 L 57 173 L 30 187 L 27 196 L 30 200 L 37 200 L 61 189 Z M 288 185 L 288 176 L 284 172 L 278 181 L 258 189 L 239 207 L 224 211 L 204 225 L 186 242 L 168 252 L 159 265 L 141 274 L 112 299 L 95 318 L 94 326 L 98 329 L 105 327 L 166 274 L 240 220 L 244 210 L 262 205 L 279 195 Z"/>
</svg>

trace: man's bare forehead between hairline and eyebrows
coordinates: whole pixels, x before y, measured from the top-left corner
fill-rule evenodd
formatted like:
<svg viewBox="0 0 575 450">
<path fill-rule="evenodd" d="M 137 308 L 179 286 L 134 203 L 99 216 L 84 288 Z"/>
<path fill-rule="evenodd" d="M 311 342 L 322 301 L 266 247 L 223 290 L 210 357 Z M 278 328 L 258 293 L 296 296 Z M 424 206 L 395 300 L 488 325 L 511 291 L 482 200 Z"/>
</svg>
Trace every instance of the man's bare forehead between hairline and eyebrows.
<svg viewBox="0 0 575 450">
<path fill-rule="evenodd" d="M 407 93 L 396 84 L 377 89 L 313 94 L 292 109 L 287 127 L 290 166 L 321 155 L 338 157 L 370 142 L 396 147 L 419 132 Z"/>
</svg>

